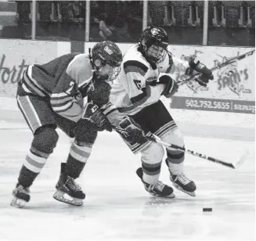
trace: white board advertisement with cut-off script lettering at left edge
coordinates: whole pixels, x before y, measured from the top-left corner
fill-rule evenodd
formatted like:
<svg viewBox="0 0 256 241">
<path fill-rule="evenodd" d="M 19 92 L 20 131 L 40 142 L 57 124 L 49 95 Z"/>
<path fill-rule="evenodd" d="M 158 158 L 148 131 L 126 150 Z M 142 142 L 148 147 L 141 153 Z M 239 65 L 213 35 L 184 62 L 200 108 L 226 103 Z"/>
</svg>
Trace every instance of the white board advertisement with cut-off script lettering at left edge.
<svg viewBox="0 0 256 241">
<path fill-rule="evenodd" d="M 57 57 L 57 42 L 1 39 L 0 96 L 15 97 L 17 83 L 27 65 Z"/>
</svg>

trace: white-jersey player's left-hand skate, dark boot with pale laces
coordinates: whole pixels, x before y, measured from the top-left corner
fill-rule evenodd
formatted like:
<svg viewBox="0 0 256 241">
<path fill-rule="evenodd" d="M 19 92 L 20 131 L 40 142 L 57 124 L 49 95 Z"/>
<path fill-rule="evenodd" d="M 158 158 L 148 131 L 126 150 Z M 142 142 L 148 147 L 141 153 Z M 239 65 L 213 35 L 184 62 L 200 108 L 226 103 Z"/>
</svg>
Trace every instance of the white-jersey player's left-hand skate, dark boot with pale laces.
<svg viewBox="0 0 256 241">
<path fill-rule="evenodd" d="M 136 174 L 141 179 L 146 191 L 150 192 L 150 195 L 159 196 L 159 197 L 167 197 L 167 198 L 175 197 L 175 194 L 173 193 L 173 189 L 170 186 L 165 185 L 163 182 L 158 181 L 156 185 L 152 185 L 152 184 L 148 184 L 148 183 L 144 182 L 142 179 L 142 176 L 143 176 L 142 167 L 139 167 L 139 169 L 136 171 Z"/>
</svg>

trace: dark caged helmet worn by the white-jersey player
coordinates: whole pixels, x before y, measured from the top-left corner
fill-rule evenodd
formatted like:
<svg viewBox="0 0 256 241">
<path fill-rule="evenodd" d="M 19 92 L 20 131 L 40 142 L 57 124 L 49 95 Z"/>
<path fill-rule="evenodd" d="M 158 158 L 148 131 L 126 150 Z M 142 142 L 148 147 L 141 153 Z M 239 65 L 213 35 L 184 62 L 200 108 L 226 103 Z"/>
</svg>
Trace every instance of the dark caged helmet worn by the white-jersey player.
<svg viewBox="0 0 256 241">
<path fill-rule="evenodd" d="M 142 32 L 139 45 L 148 61 L 160 63 L 168 52 L 168 34 L 162 27 L 147 27 Z"/>
</svg>

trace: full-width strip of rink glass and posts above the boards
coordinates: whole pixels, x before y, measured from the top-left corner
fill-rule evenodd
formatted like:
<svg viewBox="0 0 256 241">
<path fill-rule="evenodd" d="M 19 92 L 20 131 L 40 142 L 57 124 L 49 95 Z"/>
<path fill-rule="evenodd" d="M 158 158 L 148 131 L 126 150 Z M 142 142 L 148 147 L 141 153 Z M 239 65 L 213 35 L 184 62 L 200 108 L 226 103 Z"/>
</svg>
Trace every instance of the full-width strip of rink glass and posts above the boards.
<svg viewBox="0 0 256 241">
<path fill-rule="evenodd" d="M 171 45 L 255 45 L 254 1 L 1 1 L 0 38 L 137 42 L 151 24 Z"/>
</svg>

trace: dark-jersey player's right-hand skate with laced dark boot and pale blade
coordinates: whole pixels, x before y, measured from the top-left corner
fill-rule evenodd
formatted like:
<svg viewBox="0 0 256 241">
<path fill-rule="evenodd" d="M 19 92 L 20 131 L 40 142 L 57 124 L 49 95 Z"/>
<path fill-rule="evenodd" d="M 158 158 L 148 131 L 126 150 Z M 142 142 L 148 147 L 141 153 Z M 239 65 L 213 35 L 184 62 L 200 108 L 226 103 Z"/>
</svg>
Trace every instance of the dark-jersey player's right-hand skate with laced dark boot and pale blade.
<svg viewBox="0 0 256 241">
<path fill-rule="evenodd" d="M 56 192 L 53 197 L 63 203 L 68 203 L 74 206 L 83 205 L 85 193 L 81 191 L 81 187 L 74 182 L 74 178 L 70 178 L 65 173 L 66 164 L 61 164 L 59 181 L 56 184 Z"/>
</svg>

